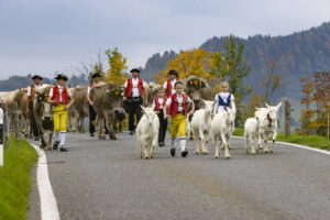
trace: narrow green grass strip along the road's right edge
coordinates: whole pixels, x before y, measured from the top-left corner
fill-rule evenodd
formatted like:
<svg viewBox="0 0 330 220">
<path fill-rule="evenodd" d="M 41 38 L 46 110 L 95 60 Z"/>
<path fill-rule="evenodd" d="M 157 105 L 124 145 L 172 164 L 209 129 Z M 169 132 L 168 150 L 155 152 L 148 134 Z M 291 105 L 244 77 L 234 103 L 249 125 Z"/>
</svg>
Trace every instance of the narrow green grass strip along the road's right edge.
<svg viewBox="0 0 330 220">
<path fill-rule="evenodd" d="M 244 129 L 235 128 L 234 135 L 243 136 Z M 318 136 L 318 135 L 301 136 L 296 133 L 292 133 L 289 136 L 286 136 L 283 133 L 278 133 L 276 140 L 282 142 L 289 142 L 289 143 L 301 144 L 301 145 L 330 151 L 330 140 L 326 139 L 324 136 Z"/>
</svg>

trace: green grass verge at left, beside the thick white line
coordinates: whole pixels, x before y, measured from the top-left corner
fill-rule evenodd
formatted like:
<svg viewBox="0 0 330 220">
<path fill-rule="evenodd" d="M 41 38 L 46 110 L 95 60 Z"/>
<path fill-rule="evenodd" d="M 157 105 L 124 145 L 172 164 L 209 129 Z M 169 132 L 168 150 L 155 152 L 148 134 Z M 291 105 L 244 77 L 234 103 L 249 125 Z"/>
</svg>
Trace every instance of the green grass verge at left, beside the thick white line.
<svg viewBox="0 0 330 220">
<path fill-rule="evenodd" d="M 25 141 L 10 136 L 4 150 L 4 166 L 0 167 L 0 220 L 26 219 L 31 190 L 31 169 L 37 161 L 35 150 Z"/>
</svg>

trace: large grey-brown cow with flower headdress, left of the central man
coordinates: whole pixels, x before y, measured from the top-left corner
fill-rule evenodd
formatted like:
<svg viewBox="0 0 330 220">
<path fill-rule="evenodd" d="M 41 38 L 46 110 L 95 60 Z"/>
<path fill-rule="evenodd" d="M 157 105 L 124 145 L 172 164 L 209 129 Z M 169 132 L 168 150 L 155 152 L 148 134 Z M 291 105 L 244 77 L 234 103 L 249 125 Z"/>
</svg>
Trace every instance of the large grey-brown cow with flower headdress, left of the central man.
<svg viewBox="0 0 330 220">
<path fill-rule="evenodd" d="M 90 98 L 94 102 L 92 107 L 97 113 L 97 124 L 99 125 L 99 139 L 106 139 L 105 134 L 105 121 L 109 130 L 109 138 L 111 140 L 117 140 L 113 121 L 114 121 L 114 109 L 122 106 L 123 98 L 120 96 L 113 98 L 113 92 L 119 89 L 112 82 L 94 85 L 90 89 Z"/>
</svg>

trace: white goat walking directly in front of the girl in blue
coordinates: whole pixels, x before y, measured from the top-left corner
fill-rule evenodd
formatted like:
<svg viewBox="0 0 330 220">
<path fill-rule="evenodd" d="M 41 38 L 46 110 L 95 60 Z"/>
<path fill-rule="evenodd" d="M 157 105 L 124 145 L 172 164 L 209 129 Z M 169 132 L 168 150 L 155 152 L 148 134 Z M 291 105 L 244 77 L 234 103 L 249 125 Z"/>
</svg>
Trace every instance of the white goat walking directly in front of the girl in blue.
<svg viewBox="0 0 330 220">
<path fill-rule="evenodd" d="M 235 110 L 227 109 L 226 111 L 218 112 L 211 123 L 211 131 L 216 147 L 215 156 L 220 156 L 220 145 L 224 148 L 224 158 L 230 158 L 229 141 L 232 135 L 232 129 L 234 127 Z"/>
</svg>

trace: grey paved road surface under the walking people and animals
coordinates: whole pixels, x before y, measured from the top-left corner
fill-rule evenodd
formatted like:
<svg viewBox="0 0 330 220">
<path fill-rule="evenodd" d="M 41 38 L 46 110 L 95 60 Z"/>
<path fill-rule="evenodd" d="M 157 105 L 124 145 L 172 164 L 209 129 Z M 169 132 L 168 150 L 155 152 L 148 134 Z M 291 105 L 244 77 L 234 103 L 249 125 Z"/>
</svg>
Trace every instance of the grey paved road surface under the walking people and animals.
<svg viewBox="0 0 330 220">
<path fill-rule="evenodd" d="M 330 157 L 277 144 L 273 155 L 246 155 L 232 140 L 230 161 L 169 156 L 140 160 L 134 136 L 98 141 L 69 134 L 68 153 L 47 152 L 62 219 L 330 219 Z M 34 183 L 29 218 L 40 219 Z"/>
</svg>

